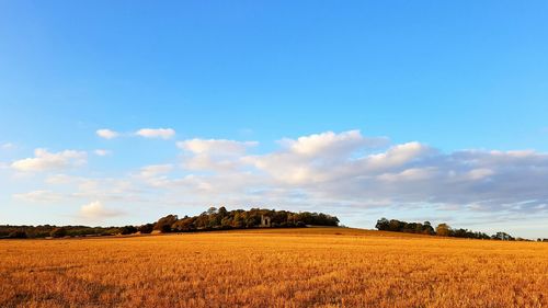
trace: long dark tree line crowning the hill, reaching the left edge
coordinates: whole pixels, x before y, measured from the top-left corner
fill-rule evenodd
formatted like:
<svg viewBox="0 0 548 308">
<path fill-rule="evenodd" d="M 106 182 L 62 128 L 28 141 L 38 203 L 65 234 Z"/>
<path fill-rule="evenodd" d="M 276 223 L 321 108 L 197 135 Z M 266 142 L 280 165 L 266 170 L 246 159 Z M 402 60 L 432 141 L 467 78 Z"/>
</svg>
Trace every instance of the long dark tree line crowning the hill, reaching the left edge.
<svg viewBox="0 0 548 308">
<path fill-rule="evenodd" d="M 0 225 L 0 239 L 104 237 L 115 235 L 160 232 L 187 232 L 227 229 L 258 228 L 261 217 L 266 216 L 273 228 L 298 228 L 307 225 L 339 226 L 339 218 L 323 213 L 251 208 L 250 210 L 227 210 L 225 207 L 210 207 L 197 216 L 168 215 L 156 223 L 140 226 L 88 227 L 88 226 L 10 226 Z"/>
</svg>

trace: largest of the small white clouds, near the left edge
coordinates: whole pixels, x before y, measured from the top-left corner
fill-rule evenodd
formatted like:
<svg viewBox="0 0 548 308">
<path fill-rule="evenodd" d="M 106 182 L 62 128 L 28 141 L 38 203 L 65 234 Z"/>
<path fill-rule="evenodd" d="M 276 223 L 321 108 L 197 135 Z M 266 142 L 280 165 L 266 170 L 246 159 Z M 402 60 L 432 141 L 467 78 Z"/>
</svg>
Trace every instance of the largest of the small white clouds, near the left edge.
<svg viewBox="0 0 548 308">
<path fill-rule="evenodd" d="M 35 149 L 34 158 L 25 158 L 11 163 L 13 169 L 24 172 L 61 170 L 84 164 L 88 153 L 84 151 L 65 150 L 48 152 L 46 149 Z"/>
</svg>

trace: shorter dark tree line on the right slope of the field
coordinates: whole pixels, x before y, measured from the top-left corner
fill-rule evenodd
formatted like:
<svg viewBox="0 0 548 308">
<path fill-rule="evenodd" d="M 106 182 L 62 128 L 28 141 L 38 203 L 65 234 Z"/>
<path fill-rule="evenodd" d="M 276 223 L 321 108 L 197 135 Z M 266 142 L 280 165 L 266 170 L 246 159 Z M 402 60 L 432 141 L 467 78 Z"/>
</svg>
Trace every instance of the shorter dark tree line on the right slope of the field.
<svg viewBox="0 0 548 308">
<path fill-rule="evenodd" d="M 484 232 L 476 232 L 468 229 L 455 229 L 452 228 L 447 224 L 439 224 L 437 227 L 433 227 L 430 221 L 424 223 L 407 223 L 398 219 L 390 219 L 383 217 L 377 220 L 377 225 L 375 225 L 377 230 L 383 231 L 393 231 L 393 232 L 406 232 L 406 233 L 421 233 L 421 235 L 431 235 L 438 237 L 453 237 L 453 238 L 467 238 L 467 239 L 491 239 L 491 240 L 504 240 L 504 241 L 514 241 L 514 240 L 524 240 L 522 238 L 514 238 L 506 232 L 496 232 L 492 236 L 489 236 Z M 537 239 L 537 241 L 548 241 L 547 239 Z"/>
</svg>

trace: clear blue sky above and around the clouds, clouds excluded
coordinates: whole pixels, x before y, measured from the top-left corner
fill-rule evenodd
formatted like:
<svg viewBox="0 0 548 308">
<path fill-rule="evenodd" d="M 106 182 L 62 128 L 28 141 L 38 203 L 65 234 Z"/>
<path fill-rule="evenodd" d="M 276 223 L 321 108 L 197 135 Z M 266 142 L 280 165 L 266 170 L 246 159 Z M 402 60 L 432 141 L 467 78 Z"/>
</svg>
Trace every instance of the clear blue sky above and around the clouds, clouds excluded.
<svg viewBox="0 0 548 308">
<path fill-rule="evenodd" d="M 0 150 L 0 224 L 72 223 L 92 202 L 38 207 L 11 197 L 42 190 L 37 175 L 11 178 L 10 166 L 35 148 L 109 149 L 70 172 L 118 179 L 179 163 L 174 141 L 191 138 L 255 140 L 250 151 L 269 153 L 284 137 L 359 129 L 446 153 L 547 152 L 547 14 L 546 1 L 2 1 L 0 145 L 13 146 Z M 176 137 L 95 135 L 142 127 Z M 147 208 L 107 221 L 186 214 Z M 448 216 L 468 226 L 467 215 Z M 377 216 L 343 223 L 373 227 Z"/>
</svg>

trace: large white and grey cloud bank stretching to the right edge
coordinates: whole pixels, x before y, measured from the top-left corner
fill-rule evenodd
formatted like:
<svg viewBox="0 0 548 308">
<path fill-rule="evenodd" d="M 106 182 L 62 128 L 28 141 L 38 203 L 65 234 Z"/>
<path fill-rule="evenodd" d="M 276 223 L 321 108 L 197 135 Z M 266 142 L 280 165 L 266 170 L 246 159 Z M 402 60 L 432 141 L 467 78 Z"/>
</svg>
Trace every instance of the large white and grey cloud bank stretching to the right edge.
<svg viewBox="0 0 548 308">
<path fill-rule="evenodd" d="M 386 147 L 358 130 L 282 139 L 248 155 L 246 142 L 193 139 L 178 146 L 184 167 L 214 173 L 185 179 L 212 194 L 272 195 L 288 203 L 376 207 L 430 204 L 469 210 L 545 210 L 548 155 L 535 151 L 442 152 L 419 141 Z M 213 153 L 225 153 L 214 156 Z M 269 198 L 264 198 L 267 201 Z M 273 201 L 273 199 L 271 199 Z"/>
</svg>

